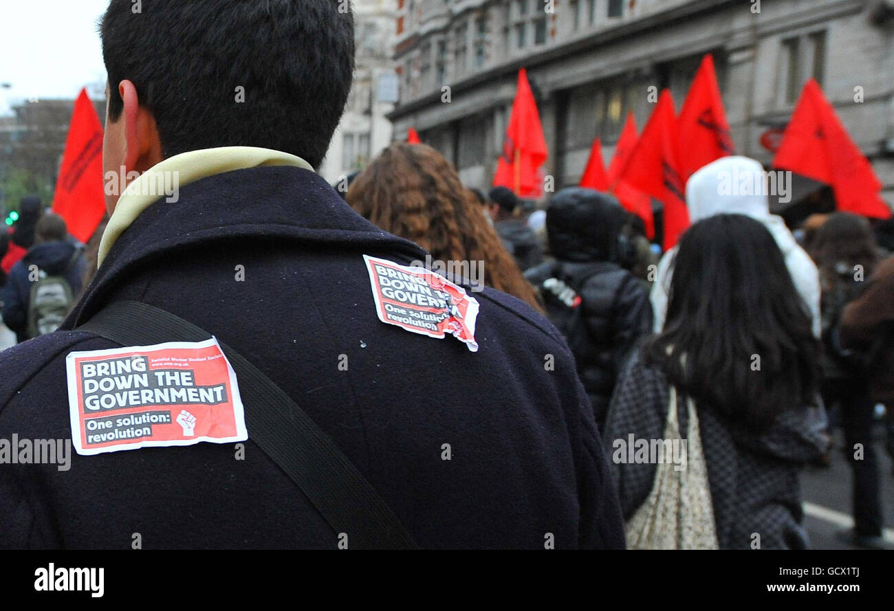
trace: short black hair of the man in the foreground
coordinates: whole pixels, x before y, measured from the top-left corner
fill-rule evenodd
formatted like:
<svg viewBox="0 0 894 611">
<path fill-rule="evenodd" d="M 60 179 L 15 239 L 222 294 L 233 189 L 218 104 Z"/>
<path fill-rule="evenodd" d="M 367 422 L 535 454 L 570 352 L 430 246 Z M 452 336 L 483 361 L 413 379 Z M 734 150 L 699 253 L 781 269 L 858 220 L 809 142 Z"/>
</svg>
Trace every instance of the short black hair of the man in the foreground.
<svg viewBox="0 0 894 611">
<path fill-rule="evenodd" d="M 139 7 L 112 0 L 99 28 L 109 119 L 122 113 L 118 84 L 133 81 L 140 105 L 155 116 L 164 157 L 263 146 L 315 168 L 323 161 L 354 68 L 348 0 L 142 0 Z"/>
</svg>

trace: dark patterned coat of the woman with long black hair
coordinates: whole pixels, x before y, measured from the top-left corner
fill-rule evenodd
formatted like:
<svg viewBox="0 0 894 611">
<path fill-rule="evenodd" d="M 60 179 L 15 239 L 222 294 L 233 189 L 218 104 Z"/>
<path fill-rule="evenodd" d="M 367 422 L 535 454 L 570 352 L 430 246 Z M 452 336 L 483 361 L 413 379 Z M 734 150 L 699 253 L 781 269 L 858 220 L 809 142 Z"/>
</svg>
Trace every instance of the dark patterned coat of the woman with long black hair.
<svg viewBox="0 0 894 611">
<path fill-rule="evenodd" d="M 637 351 L 615 388 L 603 435 L 625 520 L 652 489 L 655 465 L 620 462 L 623 453 L 613 448 L 630 434 L 661 439 L 669 401 L 664 374 Z M 825 448 L 822 406 L 785 412 L 761 433 L 704 406 L 696 409 L 720 548 L 751 548 L 754 533 L 763 549 L 806 548 L 798 467 Z M 686 431 L 686 410 L 679 416 L 680 431 Z"/>
</svg>

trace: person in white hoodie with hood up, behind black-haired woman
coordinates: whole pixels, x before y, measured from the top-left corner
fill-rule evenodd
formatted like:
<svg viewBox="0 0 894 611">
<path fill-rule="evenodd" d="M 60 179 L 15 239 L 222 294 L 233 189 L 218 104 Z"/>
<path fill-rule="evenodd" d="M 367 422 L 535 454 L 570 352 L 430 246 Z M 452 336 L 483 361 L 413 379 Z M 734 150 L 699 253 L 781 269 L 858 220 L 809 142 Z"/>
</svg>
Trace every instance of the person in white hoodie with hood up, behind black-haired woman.
<svg viewBox="0 0 894 611">
<path fill-rule="evenodd" d="M 813 319 L 816 337 L 822 331 L 820 320 L 820 277 L 816 265 L 798 246 L 785 222 L 770 213 L 770 201 L 764 180 L 763 166 L 743 156 L 721 157 L 693 174 L 686 185 L 689 219 L 696 223 L 715 214 L 745 214 L 763 223 L 782 251 L 786 267 L 798 294 L 804 299 Z M 750 187 L 750 188 L 749 188 Z M 664 253 L 652 285 L 650 298 L 654 311 L 654 331 L 664 327 L 667 314 L 668 288 L 673 274 L 673 258 L 677 248 Z"/>
</svg>

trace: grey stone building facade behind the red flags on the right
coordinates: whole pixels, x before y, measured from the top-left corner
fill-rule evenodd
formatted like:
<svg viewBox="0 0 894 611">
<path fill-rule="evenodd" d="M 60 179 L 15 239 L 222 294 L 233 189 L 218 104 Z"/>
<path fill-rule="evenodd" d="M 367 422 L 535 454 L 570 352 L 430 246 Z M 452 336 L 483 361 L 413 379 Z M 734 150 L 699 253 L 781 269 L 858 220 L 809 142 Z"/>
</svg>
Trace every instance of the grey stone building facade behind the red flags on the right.
<svg viewBox="0 0 894 611">
<path fill-rule="evenodd" d="M 894 204 L 894 0 L 397 3 L 395 138 L 416 128 L 469 186 L 492 180 L 519 68 L 561 187 L 577 183 L 595 136 L 611 160 L 628 110 L 642 130 L 649 88 L 670 88 L 679 111 L 711 53 L 740 154 L 770 162 L 765 144 L 814 77 Z"/>
</svg>

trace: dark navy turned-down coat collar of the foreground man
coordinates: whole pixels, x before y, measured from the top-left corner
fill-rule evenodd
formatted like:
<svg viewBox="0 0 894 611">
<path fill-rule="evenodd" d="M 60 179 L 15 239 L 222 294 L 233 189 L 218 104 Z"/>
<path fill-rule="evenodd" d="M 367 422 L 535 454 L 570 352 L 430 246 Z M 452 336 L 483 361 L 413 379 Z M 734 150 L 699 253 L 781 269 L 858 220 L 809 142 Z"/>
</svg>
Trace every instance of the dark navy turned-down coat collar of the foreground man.
<svg viewBox="0 0 894 611">
<path fill-rule="evenodd" d="M 426 255 L 354 212 L 314 172 L 291 166 L 223 172 L 182 187 L 176 203 L 163 196 L 139 213 L 115 240 L 62 328 L 87 322 L 140 265 L 155 261 L 161 267 L 178 250 L 216 240 L 238 244 L 258 238 L 386 250 L 408 261 Z"/>
</svg>

